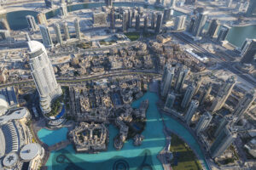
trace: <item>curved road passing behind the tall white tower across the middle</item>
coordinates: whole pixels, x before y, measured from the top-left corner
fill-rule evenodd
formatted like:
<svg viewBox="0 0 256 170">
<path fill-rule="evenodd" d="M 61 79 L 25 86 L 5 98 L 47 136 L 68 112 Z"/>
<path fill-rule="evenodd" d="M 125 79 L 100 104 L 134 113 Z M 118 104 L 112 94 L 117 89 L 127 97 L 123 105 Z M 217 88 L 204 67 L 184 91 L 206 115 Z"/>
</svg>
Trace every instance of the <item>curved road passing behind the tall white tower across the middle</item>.
<svg viewBox="0 0 256 170">
<path fill-rule="evenodd" d="M 57 78 L 57 82 L 59 82 L 61 85 L 69 85 L 69 84 L 74 84 L 74 83 L 78 83 L 78 82 L 87 82 L 90 80 L 97 80 L 97 79 L 108 78 L 108 77 L 120 77 L 120 76 L 127 76 L 127 75 L 160 76 L 160 73 L 157 73 L 155 71 L 118 70 L 118 71 L 108 71 L 101 75 L 89 75 L 86 77 L 79 77 L 79 78 L 75 78 L 75 79 Z M 1 84 L 0 88 L 20 85 L 20 84 L 27 84 L 27 83 L 32 83 L 32 82 L 33 82 L 32 79 L 29 79 L 26 81 L 20 81 L 20 82 L 9 82 L 6 84 Z"/>
</svg>

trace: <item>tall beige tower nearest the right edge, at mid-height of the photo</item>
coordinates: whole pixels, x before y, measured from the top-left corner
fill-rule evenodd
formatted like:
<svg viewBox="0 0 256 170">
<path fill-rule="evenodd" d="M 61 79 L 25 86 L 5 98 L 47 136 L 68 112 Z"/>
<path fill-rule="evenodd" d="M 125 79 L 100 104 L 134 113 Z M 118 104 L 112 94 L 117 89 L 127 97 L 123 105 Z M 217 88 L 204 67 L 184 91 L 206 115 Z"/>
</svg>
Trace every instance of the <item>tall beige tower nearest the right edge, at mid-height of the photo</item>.
<svg viewBox="0 0 256 170">
<path fill-rule="evenodd" d="M 241 119 L 241 116 L 250 108 L 253 101 L 255 100 L 255 91 L 252 90 L 244 95 L 244 97 L 239 101 L 238 105 L 236 105 L 233 116 L 234 122 L 238 122 Z"/>
</svg>

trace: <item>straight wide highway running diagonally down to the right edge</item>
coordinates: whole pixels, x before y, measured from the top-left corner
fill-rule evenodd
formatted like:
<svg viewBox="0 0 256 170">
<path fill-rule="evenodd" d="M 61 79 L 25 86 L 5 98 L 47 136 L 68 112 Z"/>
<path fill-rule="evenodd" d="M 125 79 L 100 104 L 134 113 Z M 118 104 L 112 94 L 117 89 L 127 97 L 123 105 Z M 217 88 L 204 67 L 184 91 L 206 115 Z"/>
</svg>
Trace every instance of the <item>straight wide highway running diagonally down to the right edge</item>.
<svg viewBox="0 0 256 170">
<path fill-rule="evenodd" d="M 219 65 L 221 65 L 224 69 L 234 73 L 237 75 L 237 77 L 241 77 L 241 79 L 244 79 L 247 82 L 250 82 L 251 84 L 253 84 L 254 87 L 256 87 L 256 82 L 250 78 L 247 77 L 246 75 L 242 74 L 240 71 L 237 71 L 230 62 L 226 62 L 223 61 L 221 59 L 221 57 L 211 54 L 210 52 L 208 52 L 205 48 L 202 48 L 201 46 L 198 46 L 197 44 L 195 44 L 195 42 L 188 40 L 186 37 L 183 36 L 183 33 L 175 33 L 173 34 L 174 37 L 177 37 L 178 39 L 182 40 L 183 42 L 186 42 L 189 46 L 191 46 L 191 48 L 195 48 L 198 52 L 207 54 L 207 56 L 211 57 L 212 59 L 215 59 Z"/>
</svg>

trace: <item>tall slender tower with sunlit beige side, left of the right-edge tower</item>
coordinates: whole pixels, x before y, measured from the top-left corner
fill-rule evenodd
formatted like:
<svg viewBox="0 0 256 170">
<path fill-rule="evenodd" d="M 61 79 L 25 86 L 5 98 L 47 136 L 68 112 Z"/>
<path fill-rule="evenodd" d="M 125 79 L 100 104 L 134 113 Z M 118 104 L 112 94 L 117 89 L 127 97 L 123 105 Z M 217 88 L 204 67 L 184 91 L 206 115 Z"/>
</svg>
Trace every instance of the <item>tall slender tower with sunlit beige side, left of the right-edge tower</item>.
<svg viewBox="0 0 256 170">
<path fill-rule="evenodd" d="M 225 104 L 226 100 L 230 96 L 232 89 L 236 84 L 236 77 L 232 76 L 224 82 L 224 85 L 219 89 L 217 96 L 212 102 L 211 111 L 218 111 Z"/>
</svg>

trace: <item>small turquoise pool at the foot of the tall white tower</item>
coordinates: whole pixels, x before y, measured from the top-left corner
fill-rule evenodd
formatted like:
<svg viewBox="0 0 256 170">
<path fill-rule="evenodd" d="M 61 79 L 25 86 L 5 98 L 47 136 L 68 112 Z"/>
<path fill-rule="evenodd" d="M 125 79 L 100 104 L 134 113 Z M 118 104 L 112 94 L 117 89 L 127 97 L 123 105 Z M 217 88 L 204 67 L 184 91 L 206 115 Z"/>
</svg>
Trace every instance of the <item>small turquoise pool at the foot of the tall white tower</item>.
<svg viewBox="0 0 256 170">
<path fill-rule="evenodd" d="M 38 131 L 38 138 L 44 142 L 44 144 L 53 145 L 63 140 L 67 140 L 67 127 L 62 127 L 58 130 L 48 130 L 42 128 Z"/>
</svg>

